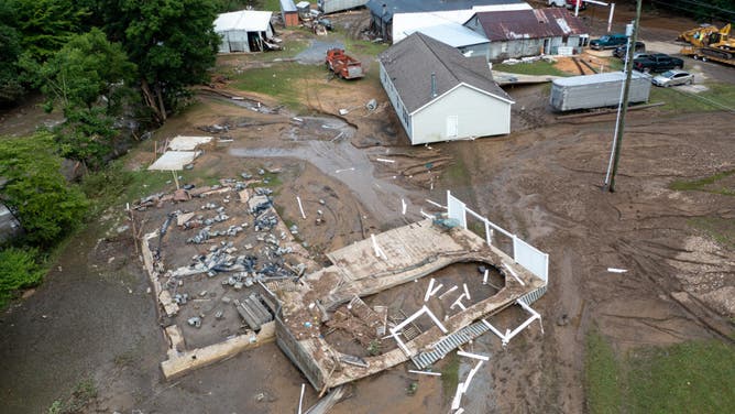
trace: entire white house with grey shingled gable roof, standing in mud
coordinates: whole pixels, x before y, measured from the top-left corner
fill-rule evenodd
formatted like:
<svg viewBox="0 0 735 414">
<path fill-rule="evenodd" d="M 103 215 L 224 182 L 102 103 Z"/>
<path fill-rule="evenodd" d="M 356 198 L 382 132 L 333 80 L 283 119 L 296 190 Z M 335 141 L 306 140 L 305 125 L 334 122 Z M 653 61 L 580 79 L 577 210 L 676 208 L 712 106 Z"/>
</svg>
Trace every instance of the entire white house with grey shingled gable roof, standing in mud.
<svg viewBox="0 0 735 414">
<path fill-rule="evenodd" d="M 414 145 L 511 132 L 514 101 L 484 56 L 414 33 L 379 56 L 381 83 Z"/>
</svg>

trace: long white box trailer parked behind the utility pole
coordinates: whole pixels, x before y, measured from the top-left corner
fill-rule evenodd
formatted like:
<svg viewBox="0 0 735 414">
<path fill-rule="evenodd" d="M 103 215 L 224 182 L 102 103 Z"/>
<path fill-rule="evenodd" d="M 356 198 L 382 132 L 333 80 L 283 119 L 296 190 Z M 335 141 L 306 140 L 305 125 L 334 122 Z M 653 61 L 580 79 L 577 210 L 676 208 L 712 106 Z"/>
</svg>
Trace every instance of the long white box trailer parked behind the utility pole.
<svg viewBox="0 0 735 414">
<path fill-rule="evenodd" d="M 628 94 L 630 103 L 648 101 L 650 79 L 649 75 L 633 72 Z M 555 79 L 551 84 L 549 102 L 559 111 L 614 107 L 621 101 L 624 81 L 623 72 Z"/>
</svg>

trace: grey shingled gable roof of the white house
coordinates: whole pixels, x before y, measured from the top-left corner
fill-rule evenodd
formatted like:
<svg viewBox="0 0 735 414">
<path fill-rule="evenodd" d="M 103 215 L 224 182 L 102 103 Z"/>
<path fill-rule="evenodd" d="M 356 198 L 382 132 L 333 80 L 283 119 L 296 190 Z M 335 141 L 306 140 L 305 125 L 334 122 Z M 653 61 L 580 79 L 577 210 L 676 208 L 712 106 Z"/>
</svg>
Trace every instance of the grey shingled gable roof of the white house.
<svg viewBox="0 0 735 414">
<path fill-rule="evenodd" d="M 379 59 L 412 113 L 460 84 L 512 101 L 493 80 L 484 56 L 464 57 L 454 47 L 419 32 L 391 46 Z M 431 96 L 431 74 L 436 75 L 436 97 Z"/>
</svg>

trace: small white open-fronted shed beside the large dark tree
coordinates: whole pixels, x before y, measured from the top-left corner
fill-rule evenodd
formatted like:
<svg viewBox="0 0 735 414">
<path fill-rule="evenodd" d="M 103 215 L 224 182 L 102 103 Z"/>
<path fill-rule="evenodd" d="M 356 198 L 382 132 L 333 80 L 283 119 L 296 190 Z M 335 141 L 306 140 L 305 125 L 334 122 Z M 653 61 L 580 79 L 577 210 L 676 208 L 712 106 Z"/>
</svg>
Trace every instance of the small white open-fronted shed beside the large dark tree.
<svg viewBox="0 0 735 414">
<path fill-rule="evenodd" d="M 215 33 L 222 42 L 220 53 L 263 52 L 272 47 L 273 12 L 241 10 L 222 13 L 215 20 Z"/>
</svg>

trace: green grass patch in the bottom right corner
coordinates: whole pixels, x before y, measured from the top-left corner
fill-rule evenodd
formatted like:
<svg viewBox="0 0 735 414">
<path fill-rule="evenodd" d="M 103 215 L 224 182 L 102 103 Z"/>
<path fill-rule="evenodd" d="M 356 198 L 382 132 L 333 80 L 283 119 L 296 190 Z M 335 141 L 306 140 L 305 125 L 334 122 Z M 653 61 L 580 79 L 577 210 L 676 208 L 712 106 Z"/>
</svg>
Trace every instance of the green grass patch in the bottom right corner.
<svg viewBox="0 0 735 414">
<path fill-rule="evenodd" d="M 718 340 L 641 347 L 616 355 L 588 334 L 584 370 L 589 413 L 733 413 L 735 347 Z"/>
</svg>

